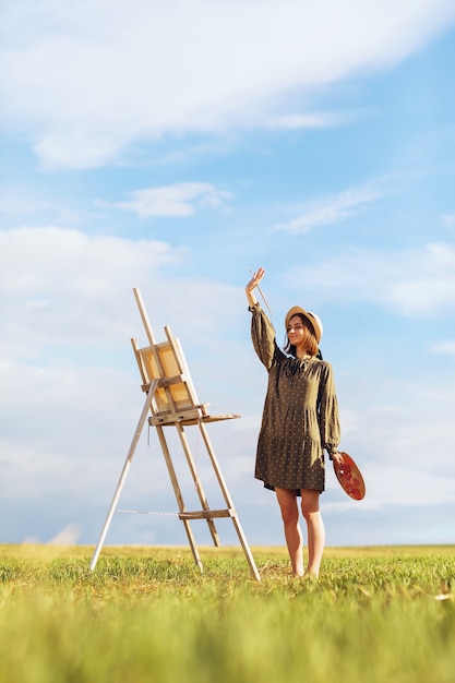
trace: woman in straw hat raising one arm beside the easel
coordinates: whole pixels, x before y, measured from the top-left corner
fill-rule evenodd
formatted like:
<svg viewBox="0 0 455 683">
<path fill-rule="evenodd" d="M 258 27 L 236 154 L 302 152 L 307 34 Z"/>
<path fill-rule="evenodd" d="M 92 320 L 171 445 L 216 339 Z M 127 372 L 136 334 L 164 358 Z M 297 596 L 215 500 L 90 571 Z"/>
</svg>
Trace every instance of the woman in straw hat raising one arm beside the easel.
<svg viewBox="0 0 455 683">
<path fill-rule="evenodd" d="M 268 371 L 254 476 L 275 490 L 294 576 L 318 578 L 325 542 L 319 504 L 325 484 L 323 448 L 343 463 L 332 366 L 319 352 L 320 319 L 300 307 L 286 315 L 289 356 L 278 348 L 274 327 L 254 295 L 263 276 L 264 268 L 259 268 L 246 287 L 254 349 Z M 308 530 L 304 570 L 298 495 Z"/>
</svg>

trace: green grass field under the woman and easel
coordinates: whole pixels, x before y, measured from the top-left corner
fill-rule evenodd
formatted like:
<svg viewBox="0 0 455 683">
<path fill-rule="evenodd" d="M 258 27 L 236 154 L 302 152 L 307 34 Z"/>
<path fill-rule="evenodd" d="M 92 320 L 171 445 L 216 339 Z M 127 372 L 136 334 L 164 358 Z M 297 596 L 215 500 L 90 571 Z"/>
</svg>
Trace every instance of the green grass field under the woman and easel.
<svg viewBox="0 0 455 683">
<path fill-rule="evenodd" d="M 455 547 L 0 546 L 3 683 L 454 683 Z"/>
</svg>

